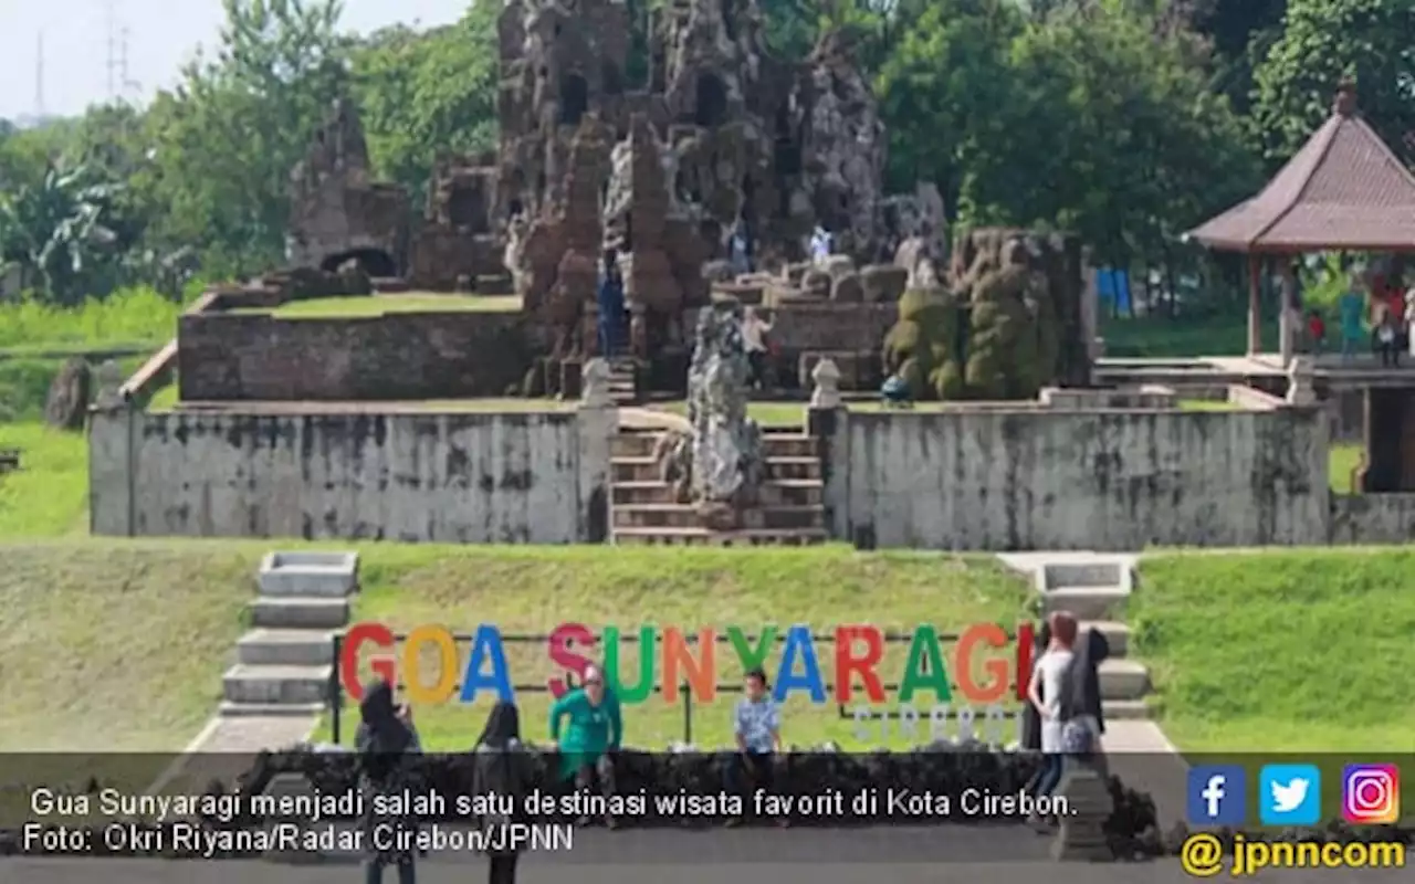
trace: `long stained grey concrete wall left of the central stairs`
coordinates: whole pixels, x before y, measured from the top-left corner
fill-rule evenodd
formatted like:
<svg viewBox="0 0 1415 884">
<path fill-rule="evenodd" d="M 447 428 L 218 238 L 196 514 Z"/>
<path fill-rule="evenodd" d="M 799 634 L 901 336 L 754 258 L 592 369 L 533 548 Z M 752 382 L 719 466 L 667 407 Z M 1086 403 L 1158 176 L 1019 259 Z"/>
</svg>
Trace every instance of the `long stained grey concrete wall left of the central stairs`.
<svg viewBox="0 0 1415 884">
<path fill-rule="evenodd" d="M 611 409 L 91 417 L 95 535 L 604 537 Z"/>
</svg>

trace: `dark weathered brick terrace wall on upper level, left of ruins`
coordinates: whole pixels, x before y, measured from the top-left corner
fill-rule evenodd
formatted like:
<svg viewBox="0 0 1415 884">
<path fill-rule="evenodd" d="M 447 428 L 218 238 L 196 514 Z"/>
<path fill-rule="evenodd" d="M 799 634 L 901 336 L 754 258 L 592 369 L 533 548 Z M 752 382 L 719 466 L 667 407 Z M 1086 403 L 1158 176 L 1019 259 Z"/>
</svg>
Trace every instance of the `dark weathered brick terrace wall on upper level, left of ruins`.
<svg viewBox="0 0 1415 884">
<path fill-rule="evenodd" d="M 406 313 L 359 318 L 184 315 L 183 400 L 398 400 L 501 396 L 532 345 L 519 314 Z"/>
</svg>

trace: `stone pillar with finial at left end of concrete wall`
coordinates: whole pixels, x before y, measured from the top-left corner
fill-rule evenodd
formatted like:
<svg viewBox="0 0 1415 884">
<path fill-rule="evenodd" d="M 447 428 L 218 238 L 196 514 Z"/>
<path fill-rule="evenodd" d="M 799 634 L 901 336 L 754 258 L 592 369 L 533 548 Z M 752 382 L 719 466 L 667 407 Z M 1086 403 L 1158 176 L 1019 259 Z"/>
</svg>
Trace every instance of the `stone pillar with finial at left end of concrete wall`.
<svg viewBox="0 0 1415 884">
<path fill-rule="evenodd" d="M 109 359 L 98 369 L 98 397 L 89 409 L 89 533 L 137 533 L 137 412 L 123 395 L 123 372 Z"/>
</svg>

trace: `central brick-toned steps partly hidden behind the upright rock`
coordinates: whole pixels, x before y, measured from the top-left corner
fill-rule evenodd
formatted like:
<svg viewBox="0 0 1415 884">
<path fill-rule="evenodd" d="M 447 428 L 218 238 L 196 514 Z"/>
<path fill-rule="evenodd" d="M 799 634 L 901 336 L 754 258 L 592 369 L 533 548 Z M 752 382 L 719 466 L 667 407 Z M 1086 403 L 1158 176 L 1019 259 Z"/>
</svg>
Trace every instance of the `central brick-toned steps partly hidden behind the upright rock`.
<svg viewBox="0 0 1415 884">
<path fill-rule="evenodd" d="M 693 505 L 675 502 L 674 489 L 662 481 L 654 460 L 662 434 L 621 430 L 614 437 L 610 461 L 614 543 L 807 546 L 828 539 L 816 440 L 798 427 L 763 427 L 767 479 L 761 505 L 747 513 L 746 528 L 727 532 L 703 526 Z"/>
</svg>

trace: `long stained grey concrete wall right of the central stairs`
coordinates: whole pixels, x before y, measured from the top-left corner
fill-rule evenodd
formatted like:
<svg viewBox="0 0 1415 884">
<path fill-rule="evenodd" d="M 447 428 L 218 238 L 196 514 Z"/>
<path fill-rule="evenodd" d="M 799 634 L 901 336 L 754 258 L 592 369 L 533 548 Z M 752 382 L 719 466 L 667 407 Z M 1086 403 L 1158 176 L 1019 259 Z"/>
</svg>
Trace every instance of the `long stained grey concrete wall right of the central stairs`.
<svg viewBox="0 0 1415 884">
<path fill-rule="evenodd" d="M 836 536 L 957 550 L 1327 540 L 1326 424 L 1274 412 L 841 413 Z"/>
</svg>

